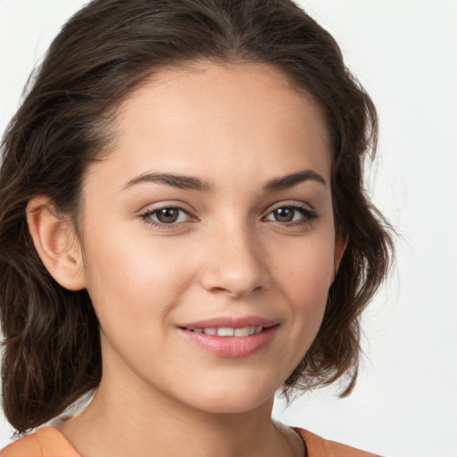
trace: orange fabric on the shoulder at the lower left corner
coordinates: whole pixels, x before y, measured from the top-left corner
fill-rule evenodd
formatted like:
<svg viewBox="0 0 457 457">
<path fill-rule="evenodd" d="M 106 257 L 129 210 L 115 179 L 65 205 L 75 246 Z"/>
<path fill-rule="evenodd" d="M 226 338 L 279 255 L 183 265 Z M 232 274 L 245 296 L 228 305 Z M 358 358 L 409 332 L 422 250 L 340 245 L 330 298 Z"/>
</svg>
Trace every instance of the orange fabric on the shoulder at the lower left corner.
<svg viewBox="0 0 457 457">
<path fill-rule="evenodd" d="M 80 457 L 54 427 L 38 428 L 0 451 L 0 457 Z"/>
</svg>

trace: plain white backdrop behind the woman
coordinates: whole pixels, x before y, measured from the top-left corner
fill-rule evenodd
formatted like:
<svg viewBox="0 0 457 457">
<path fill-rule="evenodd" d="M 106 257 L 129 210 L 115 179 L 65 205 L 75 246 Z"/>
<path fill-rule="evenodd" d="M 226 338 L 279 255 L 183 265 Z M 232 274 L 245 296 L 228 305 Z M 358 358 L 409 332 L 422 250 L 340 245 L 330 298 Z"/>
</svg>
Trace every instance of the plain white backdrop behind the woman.
<svg viewBox="0 0 457 457">
<path fill-rule="evenodd" d="M 128 1 L 128 0 L 126 0 Z M 0 130 L 80 0 L 0 0 Z M 370 195 L 401 237 L 364 317 L 353 395 L 305 395 L 289 425 L 390 457 L 457 457 L 457 1 L 303 0 L 342 47 L 380 117 Z M 1 272 L 0 272 L 1 274 Z M 0 446 L 12 430 L 0 420 Z"/>
</svg>

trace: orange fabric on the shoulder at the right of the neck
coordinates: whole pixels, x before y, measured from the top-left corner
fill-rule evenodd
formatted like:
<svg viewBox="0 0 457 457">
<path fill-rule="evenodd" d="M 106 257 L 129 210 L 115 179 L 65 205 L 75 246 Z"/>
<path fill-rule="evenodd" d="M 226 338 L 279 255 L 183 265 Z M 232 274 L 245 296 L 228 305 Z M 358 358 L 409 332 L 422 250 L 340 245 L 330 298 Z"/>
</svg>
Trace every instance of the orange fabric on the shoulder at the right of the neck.
<svg viewBox="0 0 457 457">
<path fill-rule="evenodd" d="M 306 445 L 307 457 L 380 457 L 375 453 L 367 453 L 348 445 L 329 441 L 303 428 L 293 429 L 302 437 Z"/>
</svg>

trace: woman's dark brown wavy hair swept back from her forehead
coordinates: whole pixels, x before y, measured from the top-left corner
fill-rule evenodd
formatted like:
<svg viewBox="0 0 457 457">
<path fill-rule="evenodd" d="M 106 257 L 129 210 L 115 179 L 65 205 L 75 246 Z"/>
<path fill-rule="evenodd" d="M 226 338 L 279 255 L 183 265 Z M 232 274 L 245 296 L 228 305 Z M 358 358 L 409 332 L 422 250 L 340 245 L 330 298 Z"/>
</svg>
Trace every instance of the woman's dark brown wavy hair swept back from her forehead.
<svg viewBox="0 0 457 457">
<path fill-rule="evenodd" d="M 336 226 L 347 246 L 319 334 L 283 390 L 337 379 L 345 381 L 341 396 L 353 389 L 359 319 L 392 263 L 393 232 L 363 185 L 364 158 L 377 144 L 375 106 L 335 39 L 291 0 L 95 0 L 54 39 L 1 145 L 3 406 L 21 433 L 60 414 L 102 377 L 87 291 L 66 290 L 48 273 L 26 206 L 47 195 L 77 225 L 81 182 L 109 154 L 116 108 L 154 73 L 201 59 L 273 65 L 324 109 Z"/>
</svg>

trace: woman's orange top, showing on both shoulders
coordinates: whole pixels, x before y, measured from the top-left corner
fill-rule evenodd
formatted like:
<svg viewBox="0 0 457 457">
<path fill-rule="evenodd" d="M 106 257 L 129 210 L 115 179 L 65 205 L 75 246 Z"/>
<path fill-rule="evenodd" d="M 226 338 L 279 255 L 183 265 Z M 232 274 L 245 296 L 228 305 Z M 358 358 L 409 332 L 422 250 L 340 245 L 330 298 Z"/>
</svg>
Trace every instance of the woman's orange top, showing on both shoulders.
<svg viewBox="0 0 457 457">
<path fill-rule="evenodd" d="M 307 457 L 379 457 L 335 441 L 328 441 L 302 428 L 293 428 L 306 445 Z M 81 457 L 57 428 L 39 428 L 7 445 L 0 457 Z"/>
</svg>

